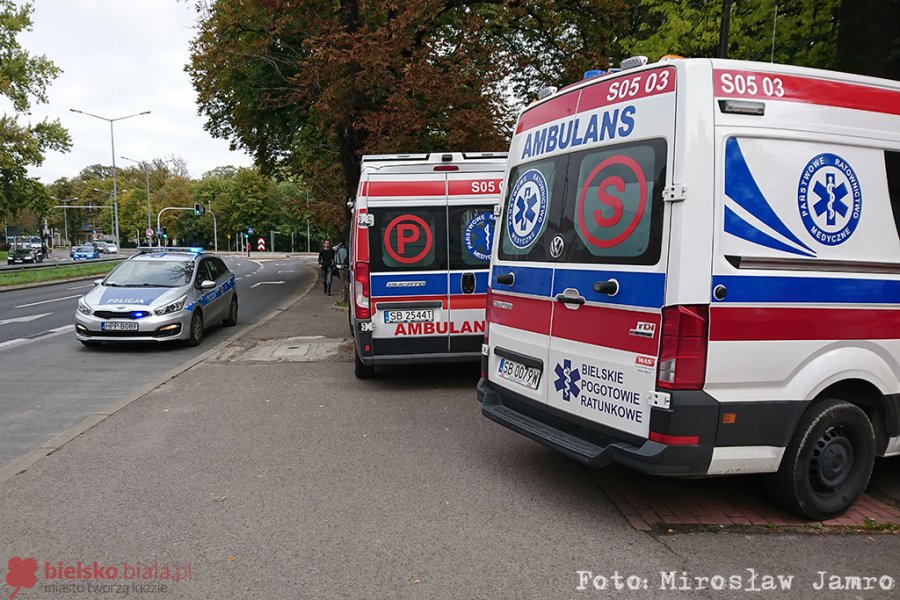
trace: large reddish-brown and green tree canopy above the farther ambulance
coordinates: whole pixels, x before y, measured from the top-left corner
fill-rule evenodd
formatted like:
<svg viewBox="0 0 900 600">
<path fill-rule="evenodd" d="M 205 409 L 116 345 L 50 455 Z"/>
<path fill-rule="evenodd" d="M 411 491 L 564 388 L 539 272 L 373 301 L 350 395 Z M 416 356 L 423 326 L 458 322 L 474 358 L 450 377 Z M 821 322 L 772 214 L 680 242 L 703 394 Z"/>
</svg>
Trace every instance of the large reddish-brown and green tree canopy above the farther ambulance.
<svg viewBox="0 0 900 600">
<path fill-rule="evenodd" d="M 509 100 L 620 54 L 625 0 L 218 0 L 188 67 L 207 129 L 322 199 L 364 153 L 504 150 Z M 620 21 L 622 23 L 620 23 Z M 522 96 L 524 99 L 524 96 Z"/>
</svg>

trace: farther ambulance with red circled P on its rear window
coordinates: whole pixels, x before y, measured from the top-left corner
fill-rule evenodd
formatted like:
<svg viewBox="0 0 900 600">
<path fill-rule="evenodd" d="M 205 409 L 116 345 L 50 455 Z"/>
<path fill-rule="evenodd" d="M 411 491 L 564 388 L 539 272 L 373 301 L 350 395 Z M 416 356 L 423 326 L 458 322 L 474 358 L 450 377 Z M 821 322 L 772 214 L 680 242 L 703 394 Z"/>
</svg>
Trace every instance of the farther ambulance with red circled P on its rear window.
<svg viewBox="0 0 900 600">
<path fill-rule="evenodd" d="M 355 374 L 477 362 L 506 153 L 364 156 L 350 246 Z"/>
</svg>

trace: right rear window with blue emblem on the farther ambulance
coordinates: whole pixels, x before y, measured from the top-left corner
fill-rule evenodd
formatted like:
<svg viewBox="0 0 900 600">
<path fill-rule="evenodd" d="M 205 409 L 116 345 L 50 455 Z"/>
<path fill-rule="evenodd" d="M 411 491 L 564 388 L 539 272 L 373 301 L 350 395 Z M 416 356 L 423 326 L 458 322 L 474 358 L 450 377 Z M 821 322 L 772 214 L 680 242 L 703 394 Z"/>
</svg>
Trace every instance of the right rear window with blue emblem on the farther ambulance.
<svg viewBox="0 0 900 600">
<path fill-rule="evenodd" d="M 494 239 L 493 206 L 450 207 L 450 270 L 487 269 Z"/>
</svg>

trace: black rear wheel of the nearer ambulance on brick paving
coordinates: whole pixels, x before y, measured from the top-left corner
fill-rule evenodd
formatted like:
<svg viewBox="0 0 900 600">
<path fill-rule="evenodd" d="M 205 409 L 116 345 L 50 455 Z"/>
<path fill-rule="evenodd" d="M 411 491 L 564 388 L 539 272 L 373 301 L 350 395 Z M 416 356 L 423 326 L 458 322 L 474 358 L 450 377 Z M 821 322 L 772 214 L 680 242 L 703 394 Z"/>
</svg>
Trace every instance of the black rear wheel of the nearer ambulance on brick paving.
<svg viewBox="0 0 900 600">
<path fill-rule="evenodd" d="M 837 399 L 814 404 L 800 419 L 781 468 L 766 480 L 776 502 L 824 521 L 859 500 L 875 464 L 875 432 L 858 406 Z"/>
</svg>

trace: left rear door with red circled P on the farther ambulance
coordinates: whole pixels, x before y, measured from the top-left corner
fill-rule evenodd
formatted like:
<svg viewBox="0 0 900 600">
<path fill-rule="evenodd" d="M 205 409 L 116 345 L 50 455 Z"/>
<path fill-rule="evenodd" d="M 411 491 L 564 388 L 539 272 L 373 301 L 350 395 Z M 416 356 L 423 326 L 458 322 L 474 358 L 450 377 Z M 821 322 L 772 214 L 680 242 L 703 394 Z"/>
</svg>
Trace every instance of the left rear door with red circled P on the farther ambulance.
<svg viewBox="0 0 900 600">
<path fill-rule="evenodd" d="M 427 168 L 366 185 L 375 356 L 448 349 L 447 178 Z"/>
</svg>

